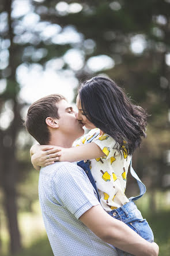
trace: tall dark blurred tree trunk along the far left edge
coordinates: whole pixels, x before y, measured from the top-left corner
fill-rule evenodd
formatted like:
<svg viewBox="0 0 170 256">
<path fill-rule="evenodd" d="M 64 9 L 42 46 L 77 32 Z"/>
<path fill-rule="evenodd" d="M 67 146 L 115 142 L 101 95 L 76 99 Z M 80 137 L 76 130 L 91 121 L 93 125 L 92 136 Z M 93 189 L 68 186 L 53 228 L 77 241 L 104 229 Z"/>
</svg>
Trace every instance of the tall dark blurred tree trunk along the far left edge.
<svg viewBox="0 0 170 256">
<path fill-rule="evenodd" d="M 2 146 L 1 146 L 1 160 L 2 160 L 2 170 L 1 170 L 1 186 L 4 193 L 4 208 L 6 212 L 9 235 L 10 235 L 10 251 L 12 254 L 16 254 L 21 249 L 21 239 L 20 232 L 18 229 L 17 220 L 17 196 L 16 196 L 16 182 L 17 182 L 17 159 L 16 159 L 16 137 L 18 127 L 20 125 L 20 112 L 17 103 L 17 82 L 15 79 L 16 74 L 16 62 L 14 61 L 14 44 L 13 44 L 13 28 L 12 28 L 12 0 L 6 0 L 4 2 L 5 10 L 8 14 L 8 27 L 9 27 L 9 68 L 11 74 L 7 78 L 7 89 L 3 102 L 7 99 L 13 100 L 14 107 L 14 119 L 10 127 L 1 131 L 2 133 Z M 12 85 L 10 84 L 12 82 Z M 9 138 L 9 143 L 5 142 L 4 138 L 7 136 Z"/>
</svg>

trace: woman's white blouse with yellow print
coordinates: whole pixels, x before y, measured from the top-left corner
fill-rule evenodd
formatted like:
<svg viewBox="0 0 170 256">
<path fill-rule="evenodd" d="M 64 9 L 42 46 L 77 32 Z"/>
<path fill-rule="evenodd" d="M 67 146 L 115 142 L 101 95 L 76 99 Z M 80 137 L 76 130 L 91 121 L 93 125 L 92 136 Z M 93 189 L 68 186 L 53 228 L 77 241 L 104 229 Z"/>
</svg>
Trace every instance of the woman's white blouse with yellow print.
<svg viewBox="0 0 170 256">
<path fill-rule="evenodd" d="M 97 128 L 90 130 L 75 145 L 85 144 L 97 131 Z M 90 170 L 99 191 L 101 206 L 109 212 L 129 202 L 124 192 L 131 156 L 127 155 L 126 147 L 123 146 L 121 158 L 119 151 L 114 148 L 115 140 L 108 134 L 99 134 L 92 142 L 105 153 L 103 158 L 90 159 Z"/>
</svg>

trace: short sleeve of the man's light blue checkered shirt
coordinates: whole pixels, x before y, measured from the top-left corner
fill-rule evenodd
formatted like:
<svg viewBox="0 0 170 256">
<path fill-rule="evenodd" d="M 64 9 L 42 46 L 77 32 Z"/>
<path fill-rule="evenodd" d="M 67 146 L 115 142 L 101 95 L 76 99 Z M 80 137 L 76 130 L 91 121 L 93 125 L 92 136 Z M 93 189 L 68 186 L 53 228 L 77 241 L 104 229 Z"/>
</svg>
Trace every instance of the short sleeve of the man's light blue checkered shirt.
<svg viewBox="0 0 170 256">
<path fill-rule="evenodd" d="M 67 162 L 56 171 L 52 179 L 52 193 L 77 219 L 92 206 L 100 204 L 84 171 Z"/>
</svg>

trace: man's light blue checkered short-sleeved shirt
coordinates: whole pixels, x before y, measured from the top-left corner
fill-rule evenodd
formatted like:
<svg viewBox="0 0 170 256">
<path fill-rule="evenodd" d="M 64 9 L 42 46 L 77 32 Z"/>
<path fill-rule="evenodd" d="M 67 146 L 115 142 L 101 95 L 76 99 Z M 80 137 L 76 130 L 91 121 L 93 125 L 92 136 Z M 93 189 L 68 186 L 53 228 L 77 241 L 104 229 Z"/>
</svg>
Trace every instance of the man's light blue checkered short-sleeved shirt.
<svg viewBox="0 0 170 256">
<path fill-rule="evenodd" d="M 41 168 L 39 199 L 54 255 L 118 255 L 111 245 L 78 220 L 99 201 L 88 177 L 77 164 L 58 162 Z"/>
</svg>

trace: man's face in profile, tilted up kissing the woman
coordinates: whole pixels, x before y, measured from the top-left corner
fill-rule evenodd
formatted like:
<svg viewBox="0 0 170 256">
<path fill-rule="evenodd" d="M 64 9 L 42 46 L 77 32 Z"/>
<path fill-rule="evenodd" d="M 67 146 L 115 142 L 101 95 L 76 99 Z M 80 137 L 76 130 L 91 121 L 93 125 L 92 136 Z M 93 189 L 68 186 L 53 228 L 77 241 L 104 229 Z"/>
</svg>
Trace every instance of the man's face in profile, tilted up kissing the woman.
<svg viewBox="0 0 170 256">
<path fill-rule="evenodd" d="M 56 105 L 58 107 L 58 124 L 61 133 L 75 138 L 81 137 L 84 134 L 84 129 L 82 129 L 82 124 L 75 117 L 76 112 L 70 104 L 66 100 L 61 100 Z"/>
</svg>

